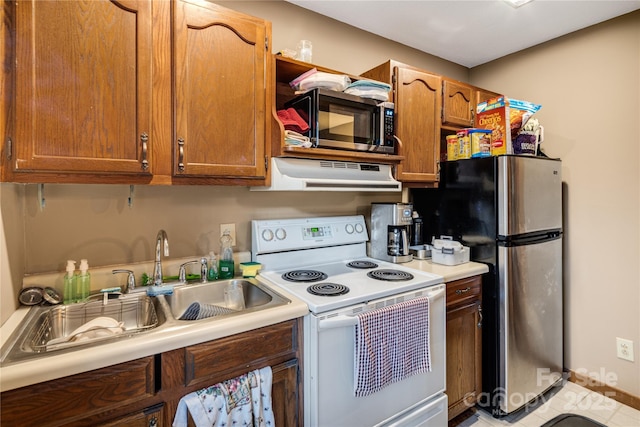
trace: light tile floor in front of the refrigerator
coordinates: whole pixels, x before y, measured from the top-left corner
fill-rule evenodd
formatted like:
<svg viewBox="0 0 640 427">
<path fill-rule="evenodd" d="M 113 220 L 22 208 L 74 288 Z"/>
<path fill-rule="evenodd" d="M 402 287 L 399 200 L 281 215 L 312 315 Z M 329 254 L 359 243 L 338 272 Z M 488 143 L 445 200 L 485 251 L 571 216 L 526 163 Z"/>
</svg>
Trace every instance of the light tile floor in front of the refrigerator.
<svg viewBox="0 0 640 427">
<path fill-rule="evenodd" d="M 640 427 L 640 411 L 637 409 L 571 382 L 550 390 L 533 408 L 501 419 L 477 410 L 457 427 L 540 427 L 563 413 L 580 414 L 608 427 Z"/>
</svg>

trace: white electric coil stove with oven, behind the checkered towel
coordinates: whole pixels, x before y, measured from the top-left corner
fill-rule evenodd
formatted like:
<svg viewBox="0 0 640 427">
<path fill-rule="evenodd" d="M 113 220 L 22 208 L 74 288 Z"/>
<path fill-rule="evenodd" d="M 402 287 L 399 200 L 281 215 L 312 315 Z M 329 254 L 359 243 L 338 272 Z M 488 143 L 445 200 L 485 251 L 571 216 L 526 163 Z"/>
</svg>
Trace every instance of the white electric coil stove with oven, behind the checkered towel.
<svg viewBox="0 0 640 427">
<path fill-rule="evenodd" d="M 447 424 L 443 278 L 367 258 L 364 217 L 252 221 L 258 275 L 305 301 L 304 425 L 307 427 Z M 354 393 L 359 313 L 427 296 L 431 371 L 365 397 Z"/>
</svg>

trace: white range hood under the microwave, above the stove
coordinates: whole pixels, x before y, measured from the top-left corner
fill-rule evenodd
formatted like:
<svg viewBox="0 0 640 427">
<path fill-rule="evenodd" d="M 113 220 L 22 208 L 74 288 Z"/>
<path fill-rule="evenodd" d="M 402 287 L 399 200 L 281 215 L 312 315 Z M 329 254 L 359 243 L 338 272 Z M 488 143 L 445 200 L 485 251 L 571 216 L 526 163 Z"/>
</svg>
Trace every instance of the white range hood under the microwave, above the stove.
<svg viewBox="0 0 640 427">
<path fill-rule="evenodd" d="M 271 186 L 251 191 L 402 191 L 390 165 L 271 158 Z"/>
</svg>

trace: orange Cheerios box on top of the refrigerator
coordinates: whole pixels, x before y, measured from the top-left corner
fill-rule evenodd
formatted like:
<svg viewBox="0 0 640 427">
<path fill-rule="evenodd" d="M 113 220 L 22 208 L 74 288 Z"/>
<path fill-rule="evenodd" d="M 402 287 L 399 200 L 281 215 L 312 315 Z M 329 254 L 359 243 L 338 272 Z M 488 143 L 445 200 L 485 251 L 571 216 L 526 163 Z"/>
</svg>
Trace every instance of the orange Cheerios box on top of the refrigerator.
<svg viewBox="0 0 640 427">
<path fill-rule="evenodd" d="M 501 96 L 478 104 L 476 127 L 491 130 L 491 155 L 511 154 L 508 99 Z"/>
</svg>

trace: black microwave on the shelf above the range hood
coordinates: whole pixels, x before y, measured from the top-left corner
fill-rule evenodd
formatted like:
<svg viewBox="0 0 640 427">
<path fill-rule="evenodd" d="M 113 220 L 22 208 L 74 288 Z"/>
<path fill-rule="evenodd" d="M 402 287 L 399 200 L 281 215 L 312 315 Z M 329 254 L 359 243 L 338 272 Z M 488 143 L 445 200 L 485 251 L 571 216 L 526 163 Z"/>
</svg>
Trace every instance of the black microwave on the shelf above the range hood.
<svg viewBox="0 0 640 427">
<path fill-rule="evenodd" d="M 394 104 L 312 89 L 285 104 L 307 123 L 314 147 L 395 153 Z"/>
</svg>

